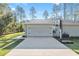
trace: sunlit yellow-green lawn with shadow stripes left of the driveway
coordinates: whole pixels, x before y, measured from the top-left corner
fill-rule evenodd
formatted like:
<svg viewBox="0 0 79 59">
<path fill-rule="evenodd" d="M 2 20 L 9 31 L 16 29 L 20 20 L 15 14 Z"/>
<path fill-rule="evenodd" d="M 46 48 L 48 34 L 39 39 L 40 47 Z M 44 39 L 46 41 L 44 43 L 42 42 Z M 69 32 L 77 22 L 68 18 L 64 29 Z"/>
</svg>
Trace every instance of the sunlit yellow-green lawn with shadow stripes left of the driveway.
<svg viewBox="0 0 79 59">
<path fill-rule="evenodd" d="M 17 39 L 12 40 L 12 39 L 23 34 L 24 34 L 23 32 L 19 32 L 19 33 L 0 36 L 0 41 L 2 41 L 0 42 L 0 56 L 6 55 L 9 51 L 11 51 L 14 47 L 16 47 L 20 42 L 22 42 L 23 40 L 17 40 Z M 8 41 L 8 42 L 5 42 L 5 41 Z"/>
</svg>

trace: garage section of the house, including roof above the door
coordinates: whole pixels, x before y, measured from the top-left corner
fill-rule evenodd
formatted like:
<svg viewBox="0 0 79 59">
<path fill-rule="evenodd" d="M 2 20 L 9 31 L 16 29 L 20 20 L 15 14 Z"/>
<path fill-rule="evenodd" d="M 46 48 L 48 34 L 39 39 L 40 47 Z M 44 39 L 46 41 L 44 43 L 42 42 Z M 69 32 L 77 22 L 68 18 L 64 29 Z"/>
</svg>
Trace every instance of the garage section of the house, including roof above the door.
<svg viewBox="0 0 79 59">
<path fill-rule="evenodd" d="M 52 22 L 48 20 L 41 20 L 38 22 L 25 23 L 25 32 L 27 36 L 53 36 Z"/>
</svg>

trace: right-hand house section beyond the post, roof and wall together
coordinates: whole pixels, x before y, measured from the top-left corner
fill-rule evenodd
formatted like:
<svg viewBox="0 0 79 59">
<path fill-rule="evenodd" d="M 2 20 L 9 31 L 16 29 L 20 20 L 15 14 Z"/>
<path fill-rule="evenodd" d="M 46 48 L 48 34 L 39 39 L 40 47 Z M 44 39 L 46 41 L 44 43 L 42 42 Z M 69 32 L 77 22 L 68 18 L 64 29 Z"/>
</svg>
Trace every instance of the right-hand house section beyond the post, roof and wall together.
<svg viewBox="0 0 79 59">
<path fill-rule="evenodd" d="M 63 21 L 63 31 L 70 36 L 79 37 L 79 22 Z"/>
</svg>

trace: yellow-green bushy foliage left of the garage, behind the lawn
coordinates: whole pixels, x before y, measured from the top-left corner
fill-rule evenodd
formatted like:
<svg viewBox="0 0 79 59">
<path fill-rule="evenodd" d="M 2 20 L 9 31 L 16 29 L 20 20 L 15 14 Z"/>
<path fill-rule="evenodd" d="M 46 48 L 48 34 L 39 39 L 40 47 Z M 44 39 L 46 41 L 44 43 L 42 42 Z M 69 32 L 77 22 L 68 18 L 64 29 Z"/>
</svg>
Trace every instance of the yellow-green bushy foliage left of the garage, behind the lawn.
<svg viewBox="0 0 79 59">
<path fill-rule="evenodd" d="M 22 24 L 21 23 L 16 23 L 15 21 L 12 21 L 10 24 L 8 24 L 5 27 L 5 34 L 9 34 L 9 33 L 16 33 L 16 32 L 22 32 L 23 28 L 22 28 Z"/>
</svg>

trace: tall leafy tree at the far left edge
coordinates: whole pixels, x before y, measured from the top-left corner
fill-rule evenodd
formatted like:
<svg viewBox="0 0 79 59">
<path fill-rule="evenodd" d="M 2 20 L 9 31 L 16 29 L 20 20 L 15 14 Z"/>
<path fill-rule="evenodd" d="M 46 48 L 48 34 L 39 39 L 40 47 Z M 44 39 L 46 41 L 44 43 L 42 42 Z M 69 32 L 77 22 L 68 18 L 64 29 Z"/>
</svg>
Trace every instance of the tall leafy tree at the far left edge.
<svg viewBox="0 0 79 59">
<path fill-rule="evenodd" d="M 0 4 L 0 35 L 4 33 L 4 28 L 11 22 L 11 16 L 8 4 Z"/>
</svg>

